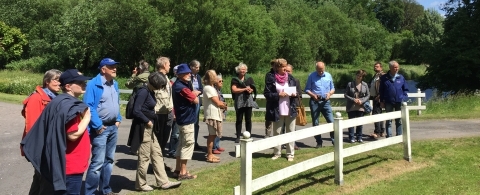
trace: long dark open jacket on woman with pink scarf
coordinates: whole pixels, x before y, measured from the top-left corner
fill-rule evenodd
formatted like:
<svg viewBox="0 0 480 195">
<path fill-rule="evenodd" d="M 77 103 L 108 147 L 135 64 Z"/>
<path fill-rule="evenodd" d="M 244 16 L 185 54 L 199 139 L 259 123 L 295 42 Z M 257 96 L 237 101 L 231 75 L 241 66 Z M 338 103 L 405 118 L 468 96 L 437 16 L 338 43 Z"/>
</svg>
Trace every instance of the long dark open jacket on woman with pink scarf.
<svg viewBox="0 0 480 195">
<path fill-rule="evenodd" d="M 278 95 L 277 87 L 275 86 L 275 74 L 267 74 L 266 76 L 265 89 L 263 91 L 263 95 L 265 96 L 265 99 L 267 99 L 265 120 L 276 122 L 280 120 L 280 110 L 278 108 L 280 96 Z M 295 78 L 291 74 L 288 74 L 288 86 L 293 87 L 296 85 Z M 290 117 L 297 117 L 298 105 L 297 101 L 295 101 L 296 99 L 297 97 L 290 96 Z"/>
</svg>

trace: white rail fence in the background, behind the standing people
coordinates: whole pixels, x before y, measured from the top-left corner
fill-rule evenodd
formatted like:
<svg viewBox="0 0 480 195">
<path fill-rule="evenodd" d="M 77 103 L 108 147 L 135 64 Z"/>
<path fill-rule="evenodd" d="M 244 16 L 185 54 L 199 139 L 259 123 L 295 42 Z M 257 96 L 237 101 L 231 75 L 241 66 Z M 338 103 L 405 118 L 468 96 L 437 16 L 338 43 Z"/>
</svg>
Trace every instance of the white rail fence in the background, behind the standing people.
<svg viewBox="0 0 480 195">
<path fill-rule="evenodd" d="M 131 89 L 120 89 L 120 93 L 128 93 L 131 94 L 132 90 Z M 223 94 L 223 97 L 225 99 L 232 99 L 232 94 Z M 410 110 L 417 110 L 417 114 L 420 115 L 422 113 L 421 110 L 427 109 L 426 106 L 422 106 L 422 98 L 425 98 L 425 93 L 422 93 L 420 89 L 417 89 L 417 93 L 408 93 L 409 98 L 417 98 L 417 105 L 413 106 L 410 105 L 408 106 L 408 109 Z M 302 94 L 302 98 L 310 98 L 307 94 Z M 333 94 L 330 98 L 332 99 L 345 99 L 343 94 Z M 257 99 L 265 99 L 265 96 L 262 94 L 257 95 Z M 371 102 L 370 102 L 371 103 Z M 127 104 L 127 101 L 121 100 L 120 104 Z M 228 111 L 235 111 L 235 108 L 233 107 L 228 107 Z M 334 111 L 345 111 L 345 106 L 332 106 L 332 110 Z M 253 111 L 265 111 L 265 108 L 259 108 L 259 109 L 254 109 Z M 310 107 L 308 105 L 305 105 L 305 111 L 310 112 Z"/>
</svg>

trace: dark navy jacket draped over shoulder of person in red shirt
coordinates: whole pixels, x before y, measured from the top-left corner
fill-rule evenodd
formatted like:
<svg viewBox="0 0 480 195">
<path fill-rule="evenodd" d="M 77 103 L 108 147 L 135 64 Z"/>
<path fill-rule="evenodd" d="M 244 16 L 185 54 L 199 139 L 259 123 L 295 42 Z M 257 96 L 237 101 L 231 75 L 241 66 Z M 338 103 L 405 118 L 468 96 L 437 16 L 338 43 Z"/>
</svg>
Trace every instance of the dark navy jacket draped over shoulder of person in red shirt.
<svg viewBox="0 0 480 195">
<path fill-rule="evenodd" d="M 65 125 L 87 109 L 87 105 L 69 94 L 55 97 L 43 110 L 20 143 L 36 171 L 53 184 L 55 191 L 66 190 Z"/>
</svg>

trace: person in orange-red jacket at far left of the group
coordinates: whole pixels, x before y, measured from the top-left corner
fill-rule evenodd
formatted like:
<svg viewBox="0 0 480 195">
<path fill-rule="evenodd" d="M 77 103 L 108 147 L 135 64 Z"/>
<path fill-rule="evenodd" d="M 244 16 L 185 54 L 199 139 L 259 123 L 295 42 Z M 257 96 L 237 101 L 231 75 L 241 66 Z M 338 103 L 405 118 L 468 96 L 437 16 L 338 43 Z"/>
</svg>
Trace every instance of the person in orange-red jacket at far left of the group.
<svg viewBox="0 0 480 195">
<path fill-rule="evenodd" d="M 37 121 L 47 104 L 57 96 L 60 91 L 61 71 L 51 69 L 43 75 L 43 85 L 37 86 L 35 91 L 23 101 L 22 116 L 25 118 L 25 128 L 23 130 L 22 140 Z M 25 156 L 20 146 L 22 156 Z M 42 194 L 41 175 L 35 171 L 29 194 Z"/>
</svg>

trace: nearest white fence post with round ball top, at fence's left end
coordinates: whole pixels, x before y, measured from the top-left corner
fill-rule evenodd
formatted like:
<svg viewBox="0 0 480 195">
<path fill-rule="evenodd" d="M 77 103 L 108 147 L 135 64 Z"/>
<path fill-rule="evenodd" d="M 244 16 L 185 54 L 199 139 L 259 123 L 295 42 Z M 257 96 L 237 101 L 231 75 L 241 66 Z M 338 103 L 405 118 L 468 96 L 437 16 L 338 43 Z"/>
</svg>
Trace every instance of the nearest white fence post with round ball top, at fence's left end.
<svg viewBox="0 0 480 195">
<path fill-rule="evenodd" d="M 240 194 L 252 194 L 252 141 L 248 131 L 243 132 L 240 139 Z"/>
</svg>

